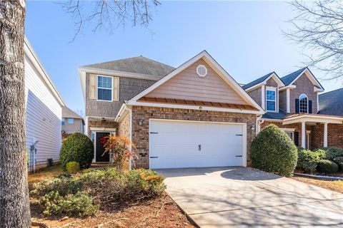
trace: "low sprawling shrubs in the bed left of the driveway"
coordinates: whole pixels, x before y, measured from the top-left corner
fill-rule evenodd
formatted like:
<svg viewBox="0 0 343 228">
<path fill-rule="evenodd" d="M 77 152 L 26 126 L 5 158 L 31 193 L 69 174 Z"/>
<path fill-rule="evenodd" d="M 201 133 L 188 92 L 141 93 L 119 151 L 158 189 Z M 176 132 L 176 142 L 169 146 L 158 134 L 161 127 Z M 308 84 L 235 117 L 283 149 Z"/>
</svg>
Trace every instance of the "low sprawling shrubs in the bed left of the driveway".
<svg viewBox="0 0 343 228">
<path fill-rule="evenodd" d="M 31 186 L 30 197 L 46 215 L 85 217 L 98 209 L 159 197 L 164 177 L 151 170 L 106 168 L 59 175 Z"/>
</svg>

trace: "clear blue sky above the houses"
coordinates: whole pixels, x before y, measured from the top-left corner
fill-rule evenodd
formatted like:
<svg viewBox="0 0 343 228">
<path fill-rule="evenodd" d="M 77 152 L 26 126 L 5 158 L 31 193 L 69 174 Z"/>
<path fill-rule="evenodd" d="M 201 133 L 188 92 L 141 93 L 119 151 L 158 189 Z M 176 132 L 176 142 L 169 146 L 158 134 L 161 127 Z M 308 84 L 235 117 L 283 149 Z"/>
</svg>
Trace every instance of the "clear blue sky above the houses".
<svg viewBox="0 0 343 228">
<path fill-rule="evenodd" d="M 128 24 L 92 33 L 89 24 L 69 43 L 71 16 L 53 1 L 27 1 L 25 33 L 66 105 L 84 110 L 77 67 L 91 63 L 142 55 L 177 67 L 205 49 L 239 83 L 296 71 L 305 60 L 302 48 L 281 31 L 292 14 L 282 1 L 162 1 L 149 30 Z M 342 87 L 321 83 L 326 91 Z"/>
</svg>

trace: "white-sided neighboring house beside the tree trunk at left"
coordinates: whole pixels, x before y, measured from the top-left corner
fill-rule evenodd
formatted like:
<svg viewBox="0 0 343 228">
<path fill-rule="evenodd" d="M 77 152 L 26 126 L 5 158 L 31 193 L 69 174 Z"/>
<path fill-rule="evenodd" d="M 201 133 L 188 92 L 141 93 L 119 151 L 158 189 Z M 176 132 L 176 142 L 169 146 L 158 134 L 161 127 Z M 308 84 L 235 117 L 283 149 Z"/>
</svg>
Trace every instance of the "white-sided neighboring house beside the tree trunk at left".
<svg viewBox="0 0 343 228">
<path fill-rule="evenodd" d="M 24 41 L 26 146 L 29 169 L 59 161 L 61 118 L 64 102 L 29 41 Z"/>
</svg>

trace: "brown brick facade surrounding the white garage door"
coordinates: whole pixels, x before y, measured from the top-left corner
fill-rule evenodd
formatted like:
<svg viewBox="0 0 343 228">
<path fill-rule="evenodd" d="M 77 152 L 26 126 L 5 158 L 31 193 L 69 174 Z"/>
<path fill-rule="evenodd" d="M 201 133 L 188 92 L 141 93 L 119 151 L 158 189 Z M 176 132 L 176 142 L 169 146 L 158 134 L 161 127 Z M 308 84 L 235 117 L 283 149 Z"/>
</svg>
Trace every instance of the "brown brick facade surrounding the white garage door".
<svg viewBox="0 0 343 228">
<path fill-rule="evenodd" d="M 132 107 L 132 140 L 137 147 L 138 158 L 136 167 L 149 168 L 149 119 L 166 120 L 198 120 L 210 122 L 247 123 L 247 163 L 249 164 L 249 150 L 256 130 L 256 115 L 244 113 L 224 113 L 204 110 L 185 110 L 176 108 Z M 141 125 L 139 125 L 139 120 Z"/>
</svg>

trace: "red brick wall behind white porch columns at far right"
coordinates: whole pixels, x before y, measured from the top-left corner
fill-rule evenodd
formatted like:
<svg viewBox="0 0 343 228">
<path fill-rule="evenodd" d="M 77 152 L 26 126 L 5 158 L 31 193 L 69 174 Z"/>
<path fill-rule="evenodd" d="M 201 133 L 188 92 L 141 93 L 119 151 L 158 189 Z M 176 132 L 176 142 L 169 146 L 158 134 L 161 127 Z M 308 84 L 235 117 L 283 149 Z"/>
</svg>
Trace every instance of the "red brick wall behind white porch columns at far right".
<svg viewBox="0 0 343 228">
<path fill-rule="evenodd" d="M 312 147 L 320 148 L 324 145 L 324 125 L 312 126 Z M 327 125 L 327 145 L 329 147 L 343 147 L 343 125 Z"/>
</svg>

